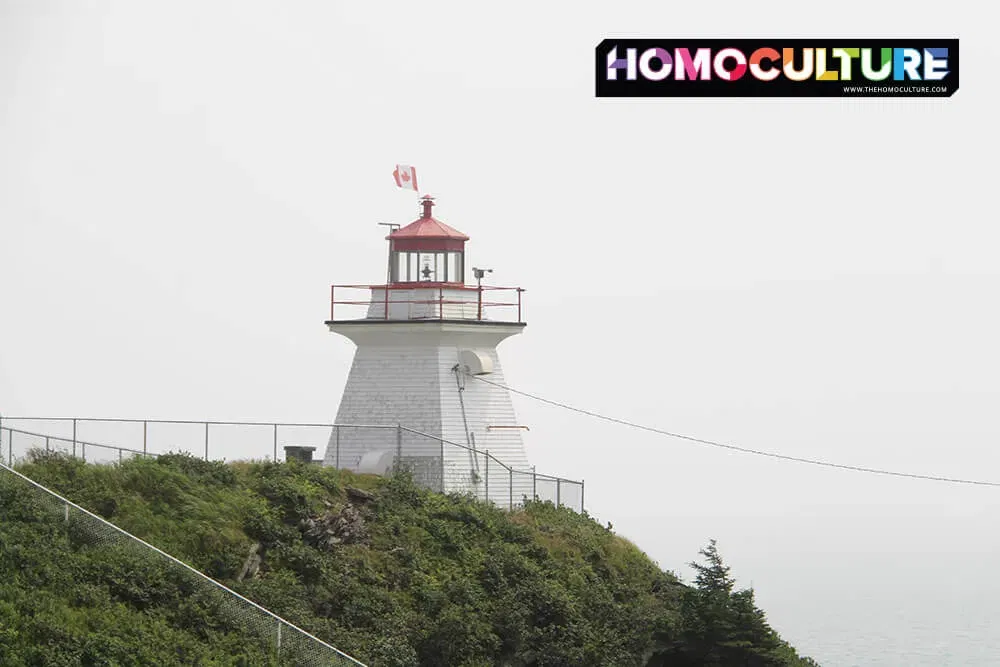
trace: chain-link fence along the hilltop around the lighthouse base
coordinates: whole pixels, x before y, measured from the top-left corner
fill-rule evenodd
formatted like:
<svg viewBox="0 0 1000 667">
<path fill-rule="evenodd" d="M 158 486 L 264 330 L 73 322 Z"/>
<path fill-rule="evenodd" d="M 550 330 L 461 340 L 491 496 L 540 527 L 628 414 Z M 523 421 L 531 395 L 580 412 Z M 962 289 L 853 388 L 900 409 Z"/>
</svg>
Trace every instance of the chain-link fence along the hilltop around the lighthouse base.
<svg viewBox="0 0 1000 667">
<path fill-rule="evenodd" d="M 314 460 L 355 472 L 386 474 L 405 469 L 425 488 L 471 493 L 508 509 L 522 506 L 526 500 L 549 501 L 578 512 L 585 508 L 583 481 L 517 469 L 489 450 L 398 424 L 0 416 L 0 461 L 8 466 L 33 448 L 93 463 L 114 463 L 168 452 L 206 460 L 278 461 L 286 447 L 305 449 L 313 453 Z M 366 461 L 371 452 L 384 452 L 384 460 Z"/>
</svg>

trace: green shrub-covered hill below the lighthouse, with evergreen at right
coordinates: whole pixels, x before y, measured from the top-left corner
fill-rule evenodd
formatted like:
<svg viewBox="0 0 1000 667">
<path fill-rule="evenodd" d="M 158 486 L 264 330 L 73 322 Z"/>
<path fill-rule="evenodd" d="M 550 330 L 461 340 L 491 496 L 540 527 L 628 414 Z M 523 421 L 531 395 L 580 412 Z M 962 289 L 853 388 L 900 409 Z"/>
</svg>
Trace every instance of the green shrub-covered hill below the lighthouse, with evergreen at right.
<svg viewBox="0 0 1000 667">
<path fill-rule="evenodd" d="M 706 548 L 695 585 L 586 515 L 188 456 L 22 473 L 373 666 L 813 665 Z M 271 665 L 160 560 L 0 474 L 0 664 Z"/>
</svg>

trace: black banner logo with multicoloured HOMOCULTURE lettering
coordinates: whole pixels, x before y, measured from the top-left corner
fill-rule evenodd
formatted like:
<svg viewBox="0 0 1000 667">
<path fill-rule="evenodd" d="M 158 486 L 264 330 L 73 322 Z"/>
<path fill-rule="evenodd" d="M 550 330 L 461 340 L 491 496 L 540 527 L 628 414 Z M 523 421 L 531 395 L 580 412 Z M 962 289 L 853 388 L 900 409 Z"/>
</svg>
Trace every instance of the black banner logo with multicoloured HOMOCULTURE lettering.
<svg viewBox="0 0 1000 667">
<path fill-rule="evenodd" d="M 957 39 L 605 39 L 597 97 L 950 97 Z"/>
</svg>

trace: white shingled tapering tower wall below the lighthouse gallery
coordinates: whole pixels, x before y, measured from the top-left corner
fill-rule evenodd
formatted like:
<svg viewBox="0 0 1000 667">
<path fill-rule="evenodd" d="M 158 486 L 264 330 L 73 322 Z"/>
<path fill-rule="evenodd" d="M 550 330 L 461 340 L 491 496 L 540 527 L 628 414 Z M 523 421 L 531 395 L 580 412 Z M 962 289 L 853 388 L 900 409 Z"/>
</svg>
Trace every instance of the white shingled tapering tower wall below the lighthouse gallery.
<svg viewBox="0 0 1000 667">
<path fill-rule="evenodd" d="M 412 327 L 413 325 L 409 325 Z M 430 327 L 430 328 L 428 328 Z M 489 498 L 505 506 L 516 504 L 522 496 L 531 496 L 532 478 L 521 431 L 489 430 L 488 426 L 518 426 L 510 394 L 506 390 L 462 378 L 462 399 L 469 434 L 462 419 L 462 403 L 453 371 L 459 352 L 475 349 L 493 360 L 493 372 L 483 376 L 504 384 L 503 370 L 497 355 L 497 343 L 519 328 L 498 329 L 484 325 L 426 324 L 419 329 L 390 323 L 365 323 L 337 332 L 349 336 L 358 345 L 354 363 L 344 388 L 338 424 L 402 424 L 431 436 L 469 446 L 469 434 L 479 452 L 490 454 L 522 474 L 511 476 L 496 461 L 489 463 Z M 418 478 L 434 488 L 441 487 L 442 446 L 437 440 L 416 434 L 402 434 L 403 462 L 422 471 Z M 357 469 L 363 454 L 373 450 L 397 452 L 396 429 L 339 429 L 327 448 L 324 463 Z M 339 454 L 338 454 L 339 452 Z M 485 457 L 446 445 L 443 490 L 470 492 L 483 498 L 487 488 Z M 339 457 L 339 458 L 338 458 Z M 475 459 L 478 459 L 475 460 Z M 477 470 L 478 479 L 474 474 Z M 433 472 L 431 472 L 433 469 Z M 513 477 L 513 480 L 511 480 Z"/>
</svg>

